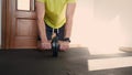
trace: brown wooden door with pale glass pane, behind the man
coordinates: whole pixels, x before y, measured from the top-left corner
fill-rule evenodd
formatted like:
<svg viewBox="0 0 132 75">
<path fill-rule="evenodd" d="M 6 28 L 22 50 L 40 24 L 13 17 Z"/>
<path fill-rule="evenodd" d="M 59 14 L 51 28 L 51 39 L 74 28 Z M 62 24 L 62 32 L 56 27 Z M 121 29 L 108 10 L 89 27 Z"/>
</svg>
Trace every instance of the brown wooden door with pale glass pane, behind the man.
<svg viewBox="0 0 132 75">
<path fill-rule="evenodd" d="M 6 0 L 3 47 L 36 49 L 37 24 L 35 0 Z"/>
</svg>

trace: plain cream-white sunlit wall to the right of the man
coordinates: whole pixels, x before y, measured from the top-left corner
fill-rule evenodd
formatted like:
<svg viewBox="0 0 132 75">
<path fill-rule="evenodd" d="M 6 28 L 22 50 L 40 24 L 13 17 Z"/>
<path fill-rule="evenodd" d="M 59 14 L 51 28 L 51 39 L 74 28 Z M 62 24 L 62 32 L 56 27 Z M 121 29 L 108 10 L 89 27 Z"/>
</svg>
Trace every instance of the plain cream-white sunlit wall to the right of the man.
<svg viewBox="0 0 132 75">
<path fill-rule="evenodd" d="M 91 52 L 132 47 L 132 0 L 78 0 L 73 43 Z"/>
</svg>

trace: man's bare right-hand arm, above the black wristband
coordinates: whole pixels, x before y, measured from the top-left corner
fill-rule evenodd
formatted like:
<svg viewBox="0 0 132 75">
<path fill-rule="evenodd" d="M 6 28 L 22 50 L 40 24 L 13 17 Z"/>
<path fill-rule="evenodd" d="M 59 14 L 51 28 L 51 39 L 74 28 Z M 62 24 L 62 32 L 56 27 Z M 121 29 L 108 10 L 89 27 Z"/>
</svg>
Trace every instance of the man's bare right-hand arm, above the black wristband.
<svg viewBox="0 0 132 75">
<path fill-rule="evenodd" d="M 65 38 L 70 38 L 73 18 L 75 12 L 76 3 L 68 3 L 66 9 L 66 24 L 65 24 Z"/>
</svg>

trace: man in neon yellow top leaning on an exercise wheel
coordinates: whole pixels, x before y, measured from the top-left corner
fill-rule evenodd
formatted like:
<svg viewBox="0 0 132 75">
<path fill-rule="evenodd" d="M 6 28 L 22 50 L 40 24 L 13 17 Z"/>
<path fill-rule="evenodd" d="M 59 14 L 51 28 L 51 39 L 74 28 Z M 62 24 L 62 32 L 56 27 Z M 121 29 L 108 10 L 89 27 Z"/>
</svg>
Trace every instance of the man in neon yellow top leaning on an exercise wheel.
<svg viewBox="0 0 132 75">
<path fill-rule="evenodd" d="M 76 0 L 36 0 L 41 47 L 50 50 L 53 32 L 58 36 L 59 50 L 69 49 Z"/>
</svg>

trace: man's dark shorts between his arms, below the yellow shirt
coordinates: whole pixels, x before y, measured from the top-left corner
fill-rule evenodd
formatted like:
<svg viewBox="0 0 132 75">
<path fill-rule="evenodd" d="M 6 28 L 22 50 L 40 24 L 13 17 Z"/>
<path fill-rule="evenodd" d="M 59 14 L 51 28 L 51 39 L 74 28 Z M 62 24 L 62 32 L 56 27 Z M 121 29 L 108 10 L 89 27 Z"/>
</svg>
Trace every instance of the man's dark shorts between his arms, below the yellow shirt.
<svg viewBox="0 0 132 75">
<path fill-rule="evenodd" d="M 64 39 L 64 30 L 65 30 L 65 25 L 63 25 L 62 28 L 58 29 L 55 29 L 54 30 L 54 33 L 56 33 L 58 40 L 63 40 Z M 48 26 L 46 24 L 46 36 L 47 36 L 47 40 L 52 40 L 52 34 L 53 34 L 53 28 Z M 41 41 L 41 36 L 38 35 L 38 41 Z"/>
</svg>

